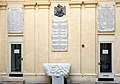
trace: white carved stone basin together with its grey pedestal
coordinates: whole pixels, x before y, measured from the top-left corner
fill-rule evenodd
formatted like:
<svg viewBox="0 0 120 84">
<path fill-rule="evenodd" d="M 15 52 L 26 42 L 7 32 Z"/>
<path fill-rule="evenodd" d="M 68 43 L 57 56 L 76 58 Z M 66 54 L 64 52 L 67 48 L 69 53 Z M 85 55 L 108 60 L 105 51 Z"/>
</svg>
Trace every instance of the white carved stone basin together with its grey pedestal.
<svg viewBox="0 0 120 84">
<path fill-rule="evenodd" d="M 43 68 L 48 76 L 52 76 L 52 84 L 64 84 L 64 77 L 70 72 L 69 63 L 45 63 Z"/>
</svg>

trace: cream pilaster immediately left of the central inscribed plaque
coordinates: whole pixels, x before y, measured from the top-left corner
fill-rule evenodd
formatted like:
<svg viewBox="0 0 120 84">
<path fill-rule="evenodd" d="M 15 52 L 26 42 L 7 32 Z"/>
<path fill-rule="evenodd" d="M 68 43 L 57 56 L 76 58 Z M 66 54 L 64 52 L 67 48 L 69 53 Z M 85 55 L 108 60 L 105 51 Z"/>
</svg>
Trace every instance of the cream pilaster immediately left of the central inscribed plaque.
<svg viewBox="0 0 120 84">
<path fill-rule="evenodd" d="M 48 63 L 49 62 L 49 45 L 50 45 L 50 3 L 46 3 L 44 4 L 44 6 L 42 6 L 41 4 L 38 4 L 38 19 L 36 17 L 36 22 L 39 21 L 37 23 L 38 30 L 36 30 L 36 32 L 38 33 L 38 68 L 37 71 L 39 73 L 44 73 L 43 72 L 43 67 L 42 64 L 43 63 Z M 44 21 L 43 21 L 44 20 Z M 36 34 L 37 34 L 36 33 Z M 37 44 L 37 43 L 36 43 Z M 37 56 L 37 55 L 36 55 Z"/>
</svg>

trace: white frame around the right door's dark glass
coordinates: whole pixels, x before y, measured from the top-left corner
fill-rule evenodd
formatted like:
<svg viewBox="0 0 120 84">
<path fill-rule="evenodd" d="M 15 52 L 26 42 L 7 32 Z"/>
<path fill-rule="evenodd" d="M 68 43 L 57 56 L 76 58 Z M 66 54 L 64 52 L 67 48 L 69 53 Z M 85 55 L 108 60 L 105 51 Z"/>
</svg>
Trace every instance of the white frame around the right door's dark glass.
<svg viewBox="0 0 120 84">
<path fill-rule="evenodd" d="M 98 42 L 98 78 L 115 78 L 114 75 L 114 36 L 112 35 L 101 35 L 98 37 L 99 42 Z M 100 72 L 100 43 L 111 43 L 112 44 L 112 72 L 111 73 L 101 73 Z"/>
</svg>

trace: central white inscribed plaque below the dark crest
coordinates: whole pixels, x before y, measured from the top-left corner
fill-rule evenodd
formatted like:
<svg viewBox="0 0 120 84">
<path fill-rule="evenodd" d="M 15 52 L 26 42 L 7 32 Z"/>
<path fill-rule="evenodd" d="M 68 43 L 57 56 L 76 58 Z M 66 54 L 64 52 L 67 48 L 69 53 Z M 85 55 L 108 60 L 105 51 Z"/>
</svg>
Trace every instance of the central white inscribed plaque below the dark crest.
<svg viewBox="0 0 120 84">
<path fill-rule="evenodd" d="M 67 51 L 67 20 L 52 20 L 52 51 Z"/>
</svg>

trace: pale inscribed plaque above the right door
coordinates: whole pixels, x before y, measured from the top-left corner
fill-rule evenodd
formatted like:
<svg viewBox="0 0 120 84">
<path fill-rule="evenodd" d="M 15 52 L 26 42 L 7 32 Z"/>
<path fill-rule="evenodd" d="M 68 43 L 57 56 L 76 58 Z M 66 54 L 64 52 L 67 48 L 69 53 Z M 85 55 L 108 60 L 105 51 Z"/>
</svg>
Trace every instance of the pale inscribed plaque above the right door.
<svg viewBox="0 0 120 84">
<path fill-rule="evenodd" d="M 98 31 L 113 32 L 115 27 L 114 3 L 99 3 L 98 7 Z"/>
</svg>

